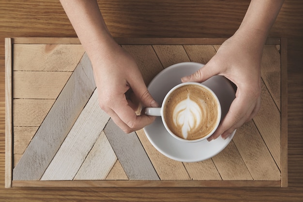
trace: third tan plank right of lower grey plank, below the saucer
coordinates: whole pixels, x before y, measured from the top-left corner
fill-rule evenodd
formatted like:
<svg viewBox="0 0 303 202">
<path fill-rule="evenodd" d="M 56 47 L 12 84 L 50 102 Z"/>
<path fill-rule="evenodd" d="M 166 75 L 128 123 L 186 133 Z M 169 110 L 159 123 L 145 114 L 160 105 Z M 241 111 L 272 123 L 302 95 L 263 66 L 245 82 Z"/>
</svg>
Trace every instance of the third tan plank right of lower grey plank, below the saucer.
<svg viewBox="0 0 303 202">
<path fill-rule="evenodd" d="M 218 155 L 212 157 L 223 180 L 252 180 L 235 144 L 231 141 Z"/>
</svg>

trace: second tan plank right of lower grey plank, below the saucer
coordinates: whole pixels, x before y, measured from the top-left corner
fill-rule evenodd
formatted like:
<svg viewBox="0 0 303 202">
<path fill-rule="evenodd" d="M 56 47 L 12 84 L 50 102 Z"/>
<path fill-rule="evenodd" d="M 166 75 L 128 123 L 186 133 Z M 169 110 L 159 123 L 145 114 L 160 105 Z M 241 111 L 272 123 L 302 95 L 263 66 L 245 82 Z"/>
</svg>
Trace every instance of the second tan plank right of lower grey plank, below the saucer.
<svg viewBox="0 0 303 202">
<path fill-rule="evenodd" d="M 211 158 L 204 161 L 183 164 L 193 180 L 222 180 Z"/>
</svg>

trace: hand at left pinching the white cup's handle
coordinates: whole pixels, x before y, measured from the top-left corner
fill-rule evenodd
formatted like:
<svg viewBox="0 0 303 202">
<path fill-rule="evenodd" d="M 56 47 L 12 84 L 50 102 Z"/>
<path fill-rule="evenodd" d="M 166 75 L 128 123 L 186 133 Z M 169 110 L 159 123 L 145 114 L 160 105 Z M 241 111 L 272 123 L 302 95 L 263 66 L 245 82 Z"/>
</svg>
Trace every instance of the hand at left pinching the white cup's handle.
<svg viewBox="0 0 303 202">
<path fill-rule="evenodd" d="M 144 113 L 136 115 L 139 102 L 145 107 L 158 104 L 148 92 L 132 56 L 115 43 L 107 47 L 92 61 L 99 104 L 124 132 L 130 133 L 155 120 Z"/>
</svg>

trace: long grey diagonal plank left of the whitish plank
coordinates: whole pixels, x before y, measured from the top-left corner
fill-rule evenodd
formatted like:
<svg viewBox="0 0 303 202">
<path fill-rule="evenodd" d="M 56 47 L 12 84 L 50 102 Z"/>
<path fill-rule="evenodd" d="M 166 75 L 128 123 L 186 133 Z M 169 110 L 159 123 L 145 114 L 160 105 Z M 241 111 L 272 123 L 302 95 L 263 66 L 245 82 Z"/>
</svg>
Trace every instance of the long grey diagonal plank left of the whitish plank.
<svg viewBox="0 0 303 202">
<path fill-rule="evenodd" d="M 84 54 L 83 57 L 88 56 Z M 92 71 L 91 63 L 77 65 L 16 165 L 13 171 L 14 180 L 39 180 L 60 148 L 95 89 L 91 81 L 93 78 L 86 76 L 83 67 Z"/>
</svg>

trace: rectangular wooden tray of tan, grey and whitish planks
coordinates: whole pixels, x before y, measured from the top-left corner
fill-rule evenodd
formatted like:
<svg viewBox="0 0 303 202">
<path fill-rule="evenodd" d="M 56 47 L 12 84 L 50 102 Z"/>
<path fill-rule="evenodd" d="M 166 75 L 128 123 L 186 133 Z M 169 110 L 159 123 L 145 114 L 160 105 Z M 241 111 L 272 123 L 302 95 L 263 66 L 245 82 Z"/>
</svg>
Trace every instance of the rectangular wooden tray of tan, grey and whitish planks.
<svg viewBox="0 0 303 202">
<path fill-rule="evenodd" d="M 207 63 L 225 39 L 117 38 L 148 84 L 169 65 Z M 77 38 L 6 38 L 5 186 L 288 186 L 287 41 L 263 51 L 262 107 L 211 159 L 160 154 L 98 106 Z"/>
</svg>

